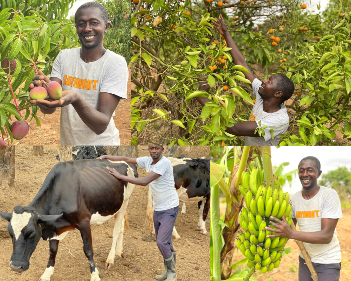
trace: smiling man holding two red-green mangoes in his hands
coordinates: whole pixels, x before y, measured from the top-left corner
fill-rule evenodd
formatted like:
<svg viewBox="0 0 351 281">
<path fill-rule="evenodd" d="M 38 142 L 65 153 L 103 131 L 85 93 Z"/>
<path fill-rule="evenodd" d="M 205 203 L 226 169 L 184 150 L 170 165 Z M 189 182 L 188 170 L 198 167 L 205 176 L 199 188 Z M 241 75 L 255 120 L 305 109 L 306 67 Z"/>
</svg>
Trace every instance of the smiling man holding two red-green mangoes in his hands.
<svg viewBox="0 0 351 281">
<path fill-rule="evenodd" d="M 77 9 L 74 20 L 81 47 L 61 50 L 50 79 L 39 71 L 28 89 L 46 88 L 50 81 L 57 81 L 62 97 L 29 100 L 45 114 L 62 107 L 61 145 L 119 145 L 112 116 L 120 99 L 126 98 L 126 61 L 103 46 L 104 33 L 110 26 L 104 6 L 87 2 Z"/>
</svg>

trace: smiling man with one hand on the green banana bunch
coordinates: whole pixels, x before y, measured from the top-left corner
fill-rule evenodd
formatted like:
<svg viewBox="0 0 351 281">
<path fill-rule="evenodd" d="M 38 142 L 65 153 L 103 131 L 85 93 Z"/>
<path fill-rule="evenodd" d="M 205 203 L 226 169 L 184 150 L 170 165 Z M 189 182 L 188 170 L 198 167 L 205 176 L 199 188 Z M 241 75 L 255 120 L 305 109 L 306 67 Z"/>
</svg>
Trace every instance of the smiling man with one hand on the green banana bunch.
<svg viewBox="0 0 351 281">
<path fill-rule="evenodd" d="M 287 237 L 304 242 L 311 257 L 312 265 L 318 274 L 318 281 L 339 281 L 341 251 L 336 234 L 338 219 L 342 218 L 339 196 L 334 189 L 317 184 L 322 174 L 316 157 L 307 156 L 298 165 L 302 190 L 291 197 L 292 220 L 299 224 L 300 231 L 289 227 L 286 218 L 283 222 L 275 217 L 266 229 L 275 232 L 267 237 Z M 313 281 L 302 254 L 299 256 L 299 281 Z"/>
</svg>

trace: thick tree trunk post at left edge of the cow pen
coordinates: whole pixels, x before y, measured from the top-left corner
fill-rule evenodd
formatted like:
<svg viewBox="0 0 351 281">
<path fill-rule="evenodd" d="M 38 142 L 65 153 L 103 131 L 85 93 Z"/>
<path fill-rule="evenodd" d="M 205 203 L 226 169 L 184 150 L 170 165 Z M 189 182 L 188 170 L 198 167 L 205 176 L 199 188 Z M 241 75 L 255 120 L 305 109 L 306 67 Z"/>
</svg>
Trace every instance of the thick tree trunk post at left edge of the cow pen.
<svg viewBox="0 0 351 281">
<path fill-rule="evenodd" d="M 15 146 L 0 146 L 0 182 L 8 182 L 14 187 L 15 181 Z"/>
</svg>

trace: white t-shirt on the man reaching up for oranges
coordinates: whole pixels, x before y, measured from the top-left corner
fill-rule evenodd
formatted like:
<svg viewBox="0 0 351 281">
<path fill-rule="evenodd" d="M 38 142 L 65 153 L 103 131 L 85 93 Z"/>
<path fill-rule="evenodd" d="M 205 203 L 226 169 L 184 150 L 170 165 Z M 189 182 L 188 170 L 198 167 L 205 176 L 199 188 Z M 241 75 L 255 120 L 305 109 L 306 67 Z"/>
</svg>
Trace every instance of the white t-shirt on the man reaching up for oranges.
<svg viewBox="0 0 351 281">
<path fill-rule="evenodd" d="M 264 137 L 245 137 L 245 145 L 278 145 L 280 142 L 280 134 L 286 133 L 289 128 L 289 116 L 287 115 L 286 106 L 284 104 L 280 105 L 280 110 L 273 113 L 267 113 L 263 110 L 263 99 L 258 93 L 261 84 L 262 82 L 257 78 L 255 78 L 251 84 L 253 93 L 256 94 L 256 102 L 252 108 L 250 121 L 256 121 L 258 128 L 262 128 L 264 125 L 268 127 L 264 129 Z M 258 124 L 259 121 L 261 121 L 261 126 Z M 273 139 L 270 129 L 274 129 Z"/>
</svg>

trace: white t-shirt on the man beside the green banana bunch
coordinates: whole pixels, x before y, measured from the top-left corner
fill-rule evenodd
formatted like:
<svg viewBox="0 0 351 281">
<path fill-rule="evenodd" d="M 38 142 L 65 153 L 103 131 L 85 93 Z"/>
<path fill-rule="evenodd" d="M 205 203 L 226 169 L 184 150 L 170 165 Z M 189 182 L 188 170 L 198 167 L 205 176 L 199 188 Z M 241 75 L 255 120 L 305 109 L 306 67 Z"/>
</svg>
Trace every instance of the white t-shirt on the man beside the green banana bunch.
<svg viewBox="0 0 351 281">
<path fill-rule="evenodd" d="M 309 200 L 303 198 L 301 192 L 302 190 L 291 196 L 291 217 L 296 218 L 300 231 L 320 231 L 322 230 L 322 218 L 343 217 L 339 196 L 334 189 L 321 185 L 318 193 Z M 340 244 L 336 234 L 336 228 L 329 244 L 310 244 L 305 242 L 303 242 L 303 244 L 313 262 L 341 262 Z M 301 253 L 300 257 L 303 258 Z"/>
</svg>

